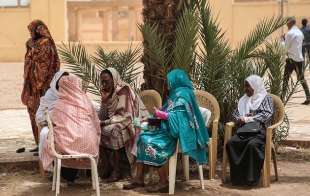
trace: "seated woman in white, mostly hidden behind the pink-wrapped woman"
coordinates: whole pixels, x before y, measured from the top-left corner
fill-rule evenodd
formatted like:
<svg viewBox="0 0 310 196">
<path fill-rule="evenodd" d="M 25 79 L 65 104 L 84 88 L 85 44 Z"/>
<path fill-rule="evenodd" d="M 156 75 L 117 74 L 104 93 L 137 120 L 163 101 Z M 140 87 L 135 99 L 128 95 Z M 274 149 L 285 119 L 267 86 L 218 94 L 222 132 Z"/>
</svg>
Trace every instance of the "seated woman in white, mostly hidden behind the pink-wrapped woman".
<svg viewBox="0 0 310 196">
<path fill-rule="evenodd" d="M 59 80 L 64 75 L 69 75 L 67 72 L 59 71 L 55 73 L 51 83 L 50 88 L 46 91 L 45 95 L 40 99 L 40 105 L 35 115 L 35 122 L 37 125 L 41 125 L 41 133 L 40 133 L 40 144 L 39 144 L 39 153 L 35 152 L 33 155 L 39 156 L 40 160 L 42 160 L 42 150 L 43 144 L 45 143 L 46 136 L 48 134 L 48 128 L 46 124 L 44 110 L 45 107 L 48 108 L 49 113 L 51 114 L 54 108 L 55 102 L 58 100 L 59 97 Z"/>
</svg>

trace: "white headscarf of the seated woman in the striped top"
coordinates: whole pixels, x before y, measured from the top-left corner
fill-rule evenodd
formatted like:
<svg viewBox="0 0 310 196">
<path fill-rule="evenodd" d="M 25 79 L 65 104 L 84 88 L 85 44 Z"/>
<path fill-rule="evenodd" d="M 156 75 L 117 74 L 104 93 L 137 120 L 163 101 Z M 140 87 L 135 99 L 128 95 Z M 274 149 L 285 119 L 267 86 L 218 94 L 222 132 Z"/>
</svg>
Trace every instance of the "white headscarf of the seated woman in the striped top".
<svg viewBox="0 0 310 196">
<path fill-rule="evenodd" d="M 248 97 L 245 94 L 238 102 L 238 111 L 241 117 L 244 117 L 249 111 L 255 111 L 260 106 L 264 98 L 268 95 L 263 79 L 258 75 L 250 75 L 245 81 L 248 81 L 248 84 L 254 90 L 254 93 L 251 97 Z"/>
</svg>

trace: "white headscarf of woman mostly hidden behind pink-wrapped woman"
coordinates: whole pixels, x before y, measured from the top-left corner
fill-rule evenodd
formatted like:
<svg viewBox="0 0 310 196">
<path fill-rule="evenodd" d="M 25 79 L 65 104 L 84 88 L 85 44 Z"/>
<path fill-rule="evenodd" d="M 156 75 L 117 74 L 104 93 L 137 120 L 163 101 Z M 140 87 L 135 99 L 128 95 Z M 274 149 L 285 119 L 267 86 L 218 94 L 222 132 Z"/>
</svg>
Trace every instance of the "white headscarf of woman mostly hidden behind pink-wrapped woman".
<svg viewBox="0 0 310 196">
<path fill-rule="evenodd" d="M 51 88 L 49 88 L 46 91 L 45 95 L 41 97 L 40 105 L 35 115 L 35 121 L 37 124 L 45 120 L 45 115 L 44 115 L 45 107 L 48 108 L 48 111 L 50 112 L 50 114 L 52 113 L 54 104 L 58 100 L 58 97 L 59 97 L 59 92 L 56 89 L 57 80 L 59 80 L 59 78 L 62 76 L 63 73 L 64 73 L 63 71 L 59 71 L 55 73 L 53 80 L 50 83 Z"/>
</svg>

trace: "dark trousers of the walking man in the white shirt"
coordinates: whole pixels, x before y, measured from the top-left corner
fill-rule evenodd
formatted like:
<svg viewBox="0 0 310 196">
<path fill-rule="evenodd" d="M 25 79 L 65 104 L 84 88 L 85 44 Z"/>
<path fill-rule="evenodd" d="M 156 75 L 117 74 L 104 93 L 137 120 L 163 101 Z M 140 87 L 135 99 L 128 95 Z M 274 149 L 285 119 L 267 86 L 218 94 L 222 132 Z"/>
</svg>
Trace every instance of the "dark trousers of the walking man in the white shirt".
<svg viewBox="0 0 310 196">
<path fill-rule="evenodd" d="M 295 72 L 297 74 L 297 78 L 301 76 L 299 81 L 304 88 L 306 97 L 310 98 L 308 84 L 307 84 L 307 81 L 305 80 L 305 76 L 303 74 L 304 62 L 296 62 L 296 61 L 289 59 L 289 58 L 287 58 L 285 60 L 285 62 L 286 62 L 286 64 L 285 64 L 285 68 L 284 68 L 283 96 L 285 95 L 286 90 L 287 90 L 287 83 L 288 83 L 289 76 L 295 70 Z"/>
</svg>

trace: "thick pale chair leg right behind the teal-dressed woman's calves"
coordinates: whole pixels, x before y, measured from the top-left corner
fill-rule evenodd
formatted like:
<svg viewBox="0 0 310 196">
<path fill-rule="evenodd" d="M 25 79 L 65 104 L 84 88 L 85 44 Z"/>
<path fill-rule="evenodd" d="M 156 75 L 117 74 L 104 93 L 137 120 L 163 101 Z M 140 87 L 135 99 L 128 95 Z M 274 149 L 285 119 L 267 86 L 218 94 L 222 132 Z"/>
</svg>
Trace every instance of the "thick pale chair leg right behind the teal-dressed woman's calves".
<svg viewBox="0 0 310 196">
<path fill-rule="evenodd" d="M 178 160 L 179 140 L 177 142 L 176 150 L 169 159 L 169 195 L 174 195 L 174 187 L 176 182 L 177 160 Z"/>
</svg>

